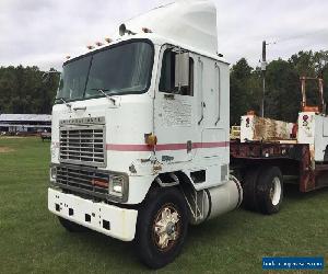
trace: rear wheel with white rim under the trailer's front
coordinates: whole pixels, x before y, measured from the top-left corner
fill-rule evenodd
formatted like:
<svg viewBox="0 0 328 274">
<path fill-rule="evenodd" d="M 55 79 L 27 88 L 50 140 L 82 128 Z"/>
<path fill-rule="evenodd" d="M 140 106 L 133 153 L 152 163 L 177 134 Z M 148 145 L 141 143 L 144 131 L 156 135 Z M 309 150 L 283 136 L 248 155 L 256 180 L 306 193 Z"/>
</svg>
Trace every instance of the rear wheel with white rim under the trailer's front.
<svg viewBox="0 0 328 274">
<path fill-rule="evenodd" d="M 283 178 L 278 167 L 269 167 L 260 172 L 256 195 L 261 213 L 279 212 L 283 198 Z"/>
</svg>

